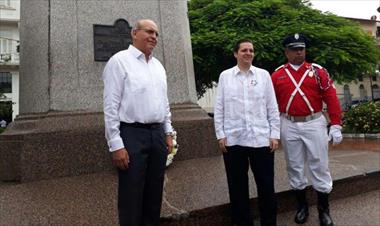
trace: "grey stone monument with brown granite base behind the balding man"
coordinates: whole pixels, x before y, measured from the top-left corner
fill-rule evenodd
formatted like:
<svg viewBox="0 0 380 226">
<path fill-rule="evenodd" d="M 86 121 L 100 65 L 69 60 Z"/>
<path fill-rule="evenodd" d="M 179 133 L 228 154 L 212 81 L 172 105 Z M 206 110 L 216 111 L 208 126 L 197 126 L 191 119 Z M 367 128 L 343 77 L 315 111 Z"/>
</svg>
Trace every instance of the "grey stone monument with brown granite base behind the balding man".
<svg viewBox="0 0 380 226">
<path fill-rule="evenodd" d="M 104 138 L 104 61 L 94 25 L 142 18 L 160 30 L 176 161 L 217 155 L 213 122 L 196 104 L 186 0 L 21 0 L 20 115 L 0 135 L 0 180 L 32 181 L 113 168 Z"/>
</svg>

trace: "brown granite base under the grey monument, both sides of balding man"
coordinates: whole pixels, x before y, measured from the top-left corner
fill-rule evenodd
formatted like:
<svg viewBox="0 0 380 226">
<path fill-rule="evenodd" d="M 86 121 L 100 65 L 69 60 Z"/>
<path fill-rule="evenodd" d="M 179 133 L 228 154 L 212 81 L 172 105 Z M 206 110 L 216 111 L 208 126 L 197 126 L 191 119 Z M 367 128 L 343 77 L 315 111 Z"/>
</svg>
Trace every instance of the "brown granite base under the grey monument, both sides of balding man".
<svg viewBox="0 0 380 226">
<path fill-rule="evenodd" d="M 172 107 L 176 160 L 218 155 L 212 119 L 196 104 Z M 20 115 L 0 135 L 0 180 L 34 181 L 112 170 L 103 113 Z"/>
</svg>

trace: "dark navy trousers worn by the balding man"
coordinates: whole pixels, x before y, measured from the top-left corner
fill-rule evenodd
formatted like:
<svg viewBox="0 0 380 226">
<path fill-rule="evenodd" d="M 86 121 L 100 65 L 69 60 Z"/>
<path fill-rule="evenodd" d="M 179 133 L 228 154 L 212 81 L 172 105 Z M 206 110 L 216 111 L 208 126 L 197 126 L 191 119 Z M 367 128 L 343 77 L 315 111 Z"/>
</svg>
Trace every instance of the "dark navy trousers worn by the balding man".
<svg viewBox="0 0 380 226">
<path fill-rule="evenodd" d="M 159 225 L 168 154 L 163 128 L 122 123 L 120 135 L 130 160 L 127 170 L 118 170 L 120 226 Z"/>
</svg>

